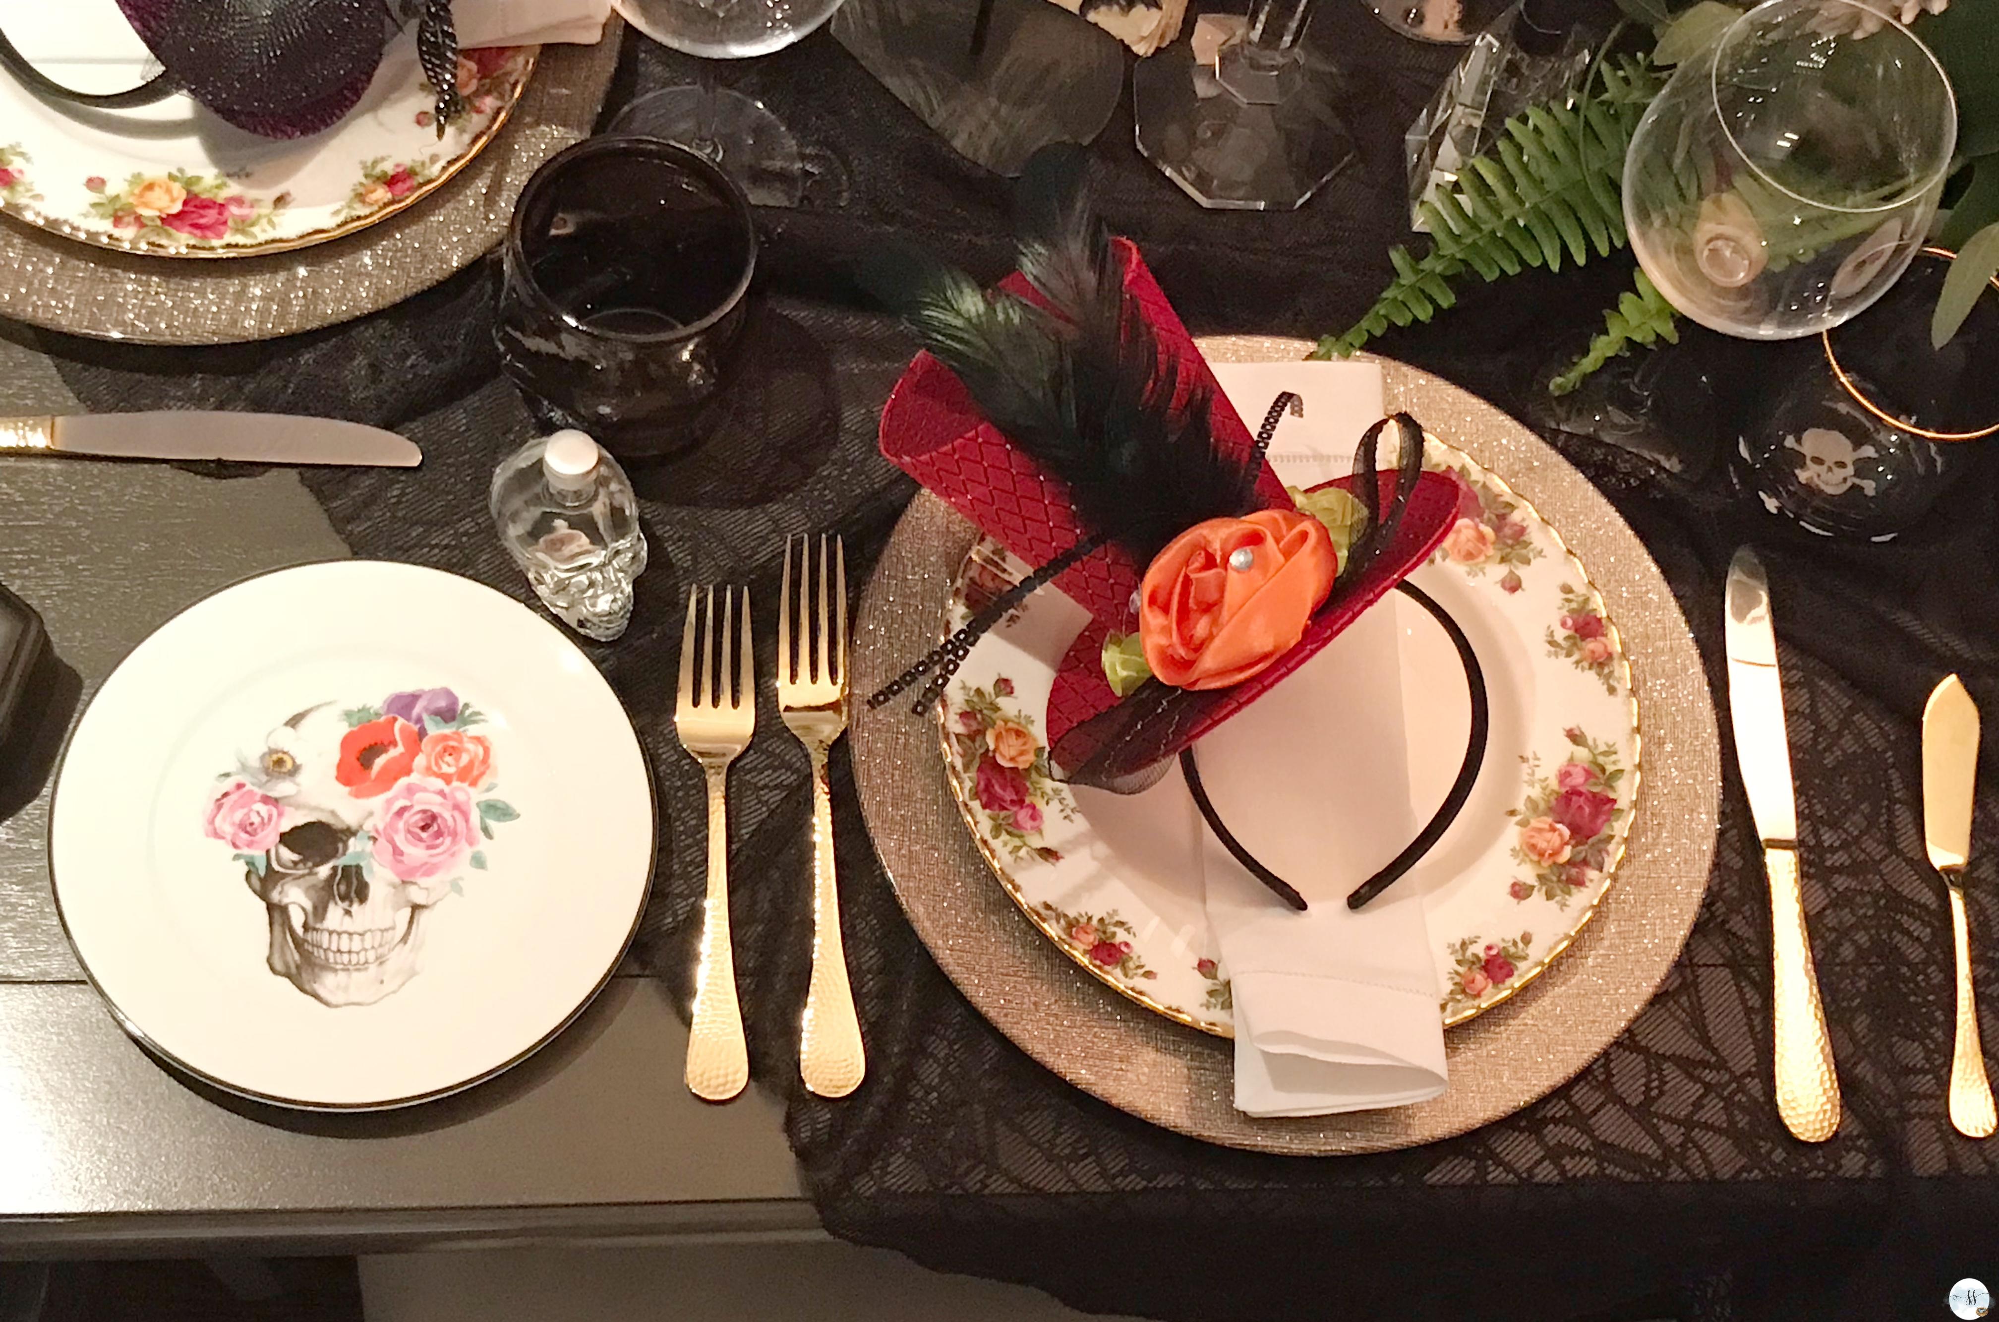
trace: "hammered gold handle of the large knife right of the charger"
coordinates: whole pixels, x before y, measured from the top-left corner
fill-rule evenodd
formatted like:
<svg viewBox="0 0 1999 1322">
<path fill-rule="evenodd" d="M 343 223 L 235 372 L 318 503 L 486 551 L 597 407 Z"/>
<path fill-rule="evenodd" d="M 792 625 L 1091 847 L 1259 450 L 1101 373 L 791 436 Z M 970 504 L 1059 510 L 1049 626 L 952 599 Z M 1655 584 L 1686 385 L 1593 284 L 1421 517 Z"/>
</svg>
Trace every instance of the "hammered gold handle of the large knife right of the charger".
<svg viewBox="0 0 1999 1322">
<path fill-rule="evenodd" d="M 1825 1142 L 1839 1130 L 1839 1076 L 1805 934 L 1797 850 L 1763 846 L 1763 870 L 1769 874 L 1777 1114 L 1797 1138 Z"/>
</svg>

